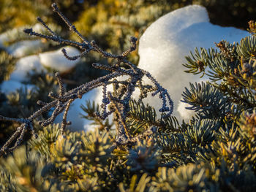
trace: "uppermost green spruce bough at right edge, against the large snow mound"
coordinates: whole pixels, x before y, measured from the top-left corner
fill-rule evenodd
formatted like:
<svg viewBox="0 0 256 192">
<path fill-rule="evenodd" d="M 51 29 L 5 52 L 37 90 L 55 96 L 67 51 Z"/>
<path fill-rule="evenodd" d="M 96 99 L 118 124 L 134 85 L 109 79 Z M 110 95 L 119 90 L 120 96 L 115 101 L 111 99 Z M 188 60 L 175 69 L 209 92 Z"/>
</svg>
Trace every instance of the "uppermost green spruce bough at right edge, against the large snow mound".
<svg viewBox="0 0 256 192">
<path fill-rule="evenodd" d="M 245 37 L 239 44 L 221 41 L 216 46 L 219 50 L 196 48 L 195 53 L 190 53 L 184 64 L 188 68 L 186 72 L 206 74 L 211 85 L 227 95 L 230 102 L 254 109 L 256 37 Z"/>
</svg>

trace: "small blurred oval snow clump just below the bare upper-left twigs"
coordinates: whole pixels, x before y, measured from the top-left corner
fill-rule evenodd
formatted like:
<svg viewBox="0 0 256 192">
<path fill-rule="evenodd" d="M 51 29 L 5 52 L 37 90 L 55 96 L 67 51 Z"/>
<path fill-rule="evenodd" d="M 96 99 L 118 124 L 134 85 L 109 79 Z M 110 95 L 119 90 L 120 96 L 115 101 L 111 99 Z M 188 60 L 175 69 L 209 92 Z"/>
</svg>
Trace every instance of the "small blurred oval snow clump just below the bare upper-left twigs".
<svg viewBox="0 0 256 192">
<path fill-rule="evenodd" d="M 70 69 L 78 64 L 80 59 L 78 58 L 75 61 L 68 60 L 61 52 L 62 48 L 67 50 L 67 55 L 69 56 L 75 56 L 80 54 L 80 51 L 75 47 L 61 47 L 59 50 L 40 53 L 40 63 L 45 67 L 56 70 L 57 72 L 69 72 Z"/>
</svg>

